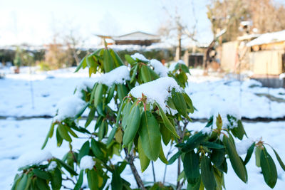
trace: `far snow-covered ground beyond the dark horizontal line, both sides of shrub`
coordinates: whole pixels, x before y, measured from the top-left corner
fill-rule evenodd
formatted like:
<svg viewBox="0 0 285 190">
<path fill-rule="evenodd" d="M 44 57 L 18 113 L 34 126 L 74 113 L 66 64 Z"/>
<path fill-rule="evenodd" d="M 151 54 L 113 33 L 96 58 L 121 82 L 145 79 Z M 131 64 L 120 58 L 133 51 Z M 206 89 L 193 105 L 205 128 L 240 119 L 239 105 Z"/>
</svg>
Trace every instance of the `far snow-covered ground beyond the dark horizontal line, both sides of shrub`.
<svg viewBox="0 0 285 190">
<path fill-rule="evenodd" d="M 0 80 L 0 116 L 53 116 L 58 100 L 73 94 L 76 85 L 88 78 L 87 70 L 73 73 L 75 68 L 45 73 L 6 74 Z M 186 92 L 197 108 L 193 118 L 207 118 L 212 108 L 233 107 L 243 117 L 285 117 L 284 88 L 263 88 L 256 80 L 225 80 L 204 77 L 201 70 L 190 70 Z M 33 98 L 32 98 L 33 97 Z M 271 100 L 268 97 L 272 97 Z M 234 108 L 236 107 L 236 108 Z"/>
</svg>

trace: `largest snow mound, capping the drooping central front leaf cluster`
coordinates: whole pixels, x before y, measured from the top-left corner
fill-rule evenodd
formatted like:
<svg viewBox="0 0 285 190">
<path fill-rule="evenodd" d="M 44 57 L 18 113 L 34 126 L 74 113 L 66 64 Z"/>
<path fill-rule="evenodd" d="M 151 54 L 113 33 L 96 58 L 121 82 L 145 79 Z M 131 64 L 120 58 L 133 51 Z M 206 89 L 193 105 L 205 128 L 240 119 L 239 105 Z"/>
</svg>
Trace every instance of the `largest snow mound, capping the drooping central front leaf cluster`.
<svg viewBox="0 0 285 190">
<path fill-rule="evenodd" d="M 173 88 L 177 91 L 182 91 L 182 88 L 180 88 L 174 78 L 164 77 L 138 85 L 130 90 L 130 94 L 139 98 L 142 97 L 143 93 L 147 97 L 147 102 L 157 102 L 162 110 L 166 112 L 166 101 L 167 98 L 171 96 L 171 90 Z"/>
</svg>

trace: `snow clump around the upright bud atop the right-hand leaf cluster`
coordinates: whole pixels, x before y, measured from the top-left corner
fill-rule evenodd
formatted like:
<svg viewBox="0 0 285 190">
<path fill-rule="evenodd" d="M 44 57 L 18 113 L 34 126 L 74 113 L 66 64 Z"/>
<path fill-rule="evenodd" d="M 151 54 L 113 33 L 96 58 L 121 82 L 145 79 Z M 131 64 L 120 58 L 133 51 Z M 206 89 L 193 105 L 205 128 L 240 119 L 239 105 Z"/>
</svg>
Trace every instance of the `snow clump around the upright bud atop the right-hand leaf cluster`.
<svg viewBox="0 0 285 190">
<path fill-rule="evenodd" d="M 242 116 L 239 113 L 239 108 L 236 105 L 223 105 L 219 104 L 212 108 L 209 113 L 209 117 L 213 116 L 213 127 L 216 127 L 217 117 L 220 115 L 222 117 L 222 127 L 237 127 L 237 121 L 231 120 L 234 124 L 230 125 L 227 115 L 235 117 L 237 120 L 241 120 Z"/>
</svg>

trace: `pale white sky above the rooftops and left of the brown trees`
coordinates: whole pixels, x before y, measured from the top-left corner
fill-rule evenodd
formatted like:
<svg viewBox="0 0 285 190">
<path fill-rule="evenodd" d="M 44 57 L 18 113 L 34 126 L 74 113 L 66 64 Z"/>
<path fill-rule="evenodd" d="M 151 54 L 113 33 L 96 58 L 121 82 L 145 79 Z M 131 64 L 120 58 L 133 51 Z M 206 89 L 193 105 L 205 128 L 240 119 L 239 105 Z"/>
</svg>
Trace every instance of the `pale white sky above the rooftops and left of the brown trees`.
<svg viewBox="0 0 285 190">
<path fill-rule="evenodd" d="M 74 30 L 88 43 L 98 43 L 95 33 L 122 35 L 133 31 L 157 33 L 175 7 L 185 25 L 198 19 L 197 38 L 201 43 L 212 39 L 207 19 L 209 0 L 0 0 L 0 46 L 19 43 L 41 45 L 52 41 L 54 33 Z M 95 45 L 95 44 L 94 44 Z"/>
</svg>

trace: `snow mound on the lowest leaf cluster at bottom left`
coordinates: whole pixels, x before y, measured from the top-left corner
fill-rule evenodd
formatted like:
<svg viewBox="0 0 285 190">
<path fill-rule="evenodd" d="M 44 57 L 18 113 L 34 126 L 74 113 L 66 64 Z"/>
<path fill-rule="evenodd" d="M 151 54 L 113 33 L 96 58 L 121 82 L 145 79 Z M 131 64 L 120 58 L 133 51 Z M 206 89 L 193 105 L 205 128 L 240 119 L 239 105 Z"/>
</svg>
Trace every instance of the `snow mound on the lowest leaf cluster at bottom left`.
<svg viewBox="0 0 285 190">
<path fill-rule="evenodd" d="M 19 157 L 18 165 L 19 167 L 25 167 L 34 164 L 38 165 L 52 158 L 53 155 L 48 151 L 27 152 L 26 154 L 22 154 L 21 157 Z"/>
</svg>

